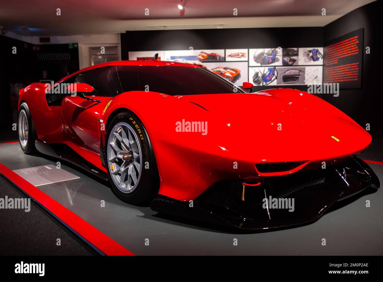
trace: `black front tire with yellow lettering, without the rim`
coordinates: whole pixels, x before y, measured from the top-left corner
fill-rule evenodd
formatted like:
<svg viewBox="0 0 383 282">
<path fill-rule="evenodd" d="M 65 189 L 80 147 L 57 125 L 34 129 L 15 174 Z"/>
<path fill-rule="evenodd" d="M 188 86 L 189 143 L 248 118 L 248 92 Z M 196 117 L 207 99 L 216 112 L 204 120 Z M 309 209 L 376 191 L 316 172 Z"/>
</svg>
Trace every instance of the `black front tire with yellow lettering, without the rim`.
<svg viewBox="0 0 383 282">
<path fill-rule="evenodd" d="M 136 130 L 139 145 L 141 146 L 142 164 L 141 175 L 136 188 L 130 193 L 124 193 L 115 185 L 111 176 L 111 168 L 108 163 L 108 150 L 111 150 L 108 140 L 113 127 L 119 122 L 125 122 Z M 136 127 L 138 126 L 138 129 Z M 141 131 L 140 131 L 141 130 Z M 140 133 L 141 132 L 141 133 Z M 144 125 L 138 117 L 129 111 L 119 112 L 114 115 L 107 124 L 107 132 L 105 138 L 105 163 L 108 170 L 108 178 L 111 183 L 113 193 L 122 201 L 134 204 L 136 206 L 148 206 L 149 202 L 158 194 L 159 191 L 159 173 L 157 162 L 155 161 L 154 151 L 146 132 Z M 147 163 L 146 163 L 147 162 Z"/>
</svg>

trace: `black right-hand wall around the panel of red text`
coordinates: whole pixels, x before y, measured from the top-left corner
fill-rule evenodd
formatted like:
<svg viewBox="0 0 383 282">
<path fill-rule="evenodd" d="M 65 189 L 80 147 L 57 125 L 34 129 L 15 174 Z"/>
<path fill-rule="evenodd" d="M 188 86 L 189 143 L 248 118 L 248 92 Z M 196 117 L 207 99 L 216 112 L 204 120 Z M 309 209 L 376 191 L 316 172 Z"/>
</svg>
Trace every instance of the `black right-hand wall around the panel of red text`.
<svg viewBox="0 0 383 282">
<path fill-rule="evenodd" d="M 364 29 L 362 88 L 340 90 L 339 97 L 323 95 L 322 98 L 345 112 L 363 127 L 369 123 L 371 134 L 378 134 L 383 130 L 383 99 L 380 88 L 383 54 L 380 49 L 381 45 L 379 45 L 382 34 L 382 6 L 381 0 L 372 2 L 324 27 L 324 42 L 359 28 Z M 367 46 L 371 48 L 370 54 L 365 53 Z"/>
</svg>

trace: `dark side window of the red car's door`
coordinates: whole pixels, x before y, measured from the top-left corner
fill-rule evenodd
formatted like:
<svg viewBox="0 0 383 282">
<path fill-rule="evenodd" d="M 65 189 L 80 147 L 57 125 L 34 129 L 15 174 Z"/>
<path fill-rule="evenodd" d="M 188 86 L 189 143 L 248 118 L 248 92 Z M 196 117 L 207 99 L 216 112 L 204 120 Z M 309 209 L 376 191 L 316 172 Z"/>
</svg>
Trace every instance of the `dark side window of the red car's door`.
<svg viewBox="0 0 383 282">
<path fill-rule="evenodd" d="M 84 71 L 77 75 L 74 82 L 92 86 L 92 96 L 114 97 L 118 94 L 110 66 Z"/>
</svg>

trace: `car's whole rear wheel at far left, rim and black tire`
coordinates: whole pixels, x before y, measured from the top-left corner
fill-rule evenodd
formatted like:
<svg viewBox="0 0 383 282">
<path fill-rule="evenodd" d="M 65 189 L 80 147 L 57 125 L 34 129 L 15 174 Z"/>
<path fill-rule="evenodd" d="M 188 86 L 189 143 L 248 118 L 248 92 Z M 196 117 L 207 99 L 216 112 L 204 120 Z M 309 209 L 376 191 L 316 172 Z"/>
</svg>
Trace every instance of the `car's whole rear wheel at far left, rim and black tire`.
<svg viewBox="0 0 383 282">
<path fill-rule="evenodd" d="M 19 108 L 17 131 L 21 150 L 26 154 L 36 152 L 34 145 L 37 136 L 36 130 L 26 103 L 21 104 Z"/>
</svg>

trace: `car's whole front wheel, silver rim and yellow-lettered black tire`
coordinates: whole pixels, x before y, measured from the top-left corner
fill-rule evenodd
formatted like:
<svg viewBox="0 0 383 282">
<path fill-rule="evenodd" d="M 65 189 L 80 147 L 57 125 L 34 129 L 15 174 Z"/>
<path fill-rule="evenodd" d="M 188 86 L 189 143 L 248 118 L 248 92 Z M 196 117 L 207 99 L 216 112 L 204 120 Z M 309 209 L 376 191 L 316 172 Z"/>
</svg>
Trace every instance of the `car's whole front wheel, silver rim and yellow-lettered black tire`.
<svg viewBox="0 0 383 282">
<path fill-rule="evenodd" d="M 132 112 L 119 112 L 107 124 L 105 164 L 113 193 L 146 206 L 157 195 L 159 174 L 149 135 Z"/>
</svg>

